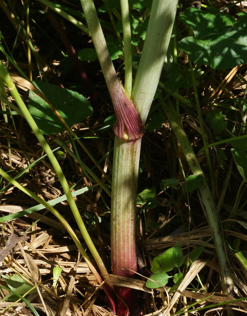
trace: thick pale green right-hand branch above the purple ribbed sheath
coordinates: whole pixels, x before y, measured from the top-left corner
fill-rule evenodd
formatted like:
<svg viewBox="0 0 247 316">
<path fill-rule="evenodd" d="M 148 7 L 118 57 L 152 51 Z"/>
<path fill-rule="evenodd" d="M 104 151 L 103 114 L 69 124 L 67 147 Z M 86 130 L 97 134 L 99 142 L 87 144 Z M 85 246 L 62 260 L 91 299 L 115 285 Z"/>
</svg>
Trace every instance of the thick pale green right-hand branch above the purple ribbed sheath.
<svg viewBox="0 0 247 316">
<path fill-rule="evenodd" d="M 131 100 L 145 123 L 159 82 L 175 20 L 177 0 L 154 0 Z"/>
</svg>

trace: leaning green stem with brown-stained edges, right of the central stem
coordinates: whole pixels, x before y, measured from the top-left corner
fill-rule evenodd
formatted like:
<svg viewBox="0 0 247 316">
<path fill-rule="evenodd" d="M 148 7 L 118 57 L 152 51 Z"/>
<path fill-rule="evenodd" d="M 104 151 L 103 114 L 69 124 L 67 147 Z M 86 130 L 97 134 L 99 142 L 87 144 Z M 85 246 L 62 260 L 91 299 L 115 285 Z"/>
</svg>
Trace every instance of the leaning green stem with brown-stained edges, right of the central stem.
<svg viewBox="0 0 247 316">
<path fill-rule="evenodd" d="M 176 115 L 176 111 L 173 105 L 170 104 L 169 102 L 169 104 L 164 103 L 163 106 L 164 106 L 164 111 L 172 127 L 172 130 L 174 131 L 177 137 L 177 140 L 180 143 L 180 146 L 183 150 L 186 160 L 188 161 L 188 164 L 191 168 L 192 173 L 200 174 L 204 177 L 204 174 L 201 170 L 199 162 L 183 130 L 183 127 L 180 123 L 180 119 Z M 220 277 L 221 277 L 223 292 L 225 294 L 234 296 L 231 269 L 230 269 L 230 263 L 228 260 L 226 249 L 225 249 L 223 230 L 222 230 L 219 216 L 215 209 L 211 192 L 209 190 L 209 187 L 206 181 L 202 181 L 201 184 L 199 185 L 199 192 L 200 192 L 199 198 L 201 201 L 201 205 L 205 212 L 207 221 L 210 225 L 210 228 L 213 234 L 214 244 L 215 244 L 215 248 L 216 248 L 218 260 L 219 260 L 219 270 L 220 270 Z"/>
</svg>

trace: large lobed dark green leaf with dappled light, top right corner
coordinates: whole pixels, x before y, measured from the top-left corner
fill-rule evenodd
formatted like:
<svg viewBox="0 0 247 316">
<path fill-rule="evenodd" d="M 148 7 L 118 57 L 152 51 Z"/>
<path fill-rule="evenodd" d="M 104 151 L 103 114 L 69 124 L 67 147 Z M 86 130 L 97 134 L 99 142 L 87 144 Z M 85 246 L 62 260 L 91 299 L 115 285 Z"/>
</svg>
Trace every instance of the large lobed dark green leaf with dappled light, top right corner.
<svg viewBox="0 0 247 316">
<path fill-rule="evenodd" d="M 206 12 L 196 8 L 185 9 L 178 18 L 191 27 L 195 37 L 182 39 L 179 49 L 187 52 L 193 62 L 212 68 L 227 69 L 246 63 L 247 15 L 238 15 L 240 21 L 214 8 Z"/>
</svg>

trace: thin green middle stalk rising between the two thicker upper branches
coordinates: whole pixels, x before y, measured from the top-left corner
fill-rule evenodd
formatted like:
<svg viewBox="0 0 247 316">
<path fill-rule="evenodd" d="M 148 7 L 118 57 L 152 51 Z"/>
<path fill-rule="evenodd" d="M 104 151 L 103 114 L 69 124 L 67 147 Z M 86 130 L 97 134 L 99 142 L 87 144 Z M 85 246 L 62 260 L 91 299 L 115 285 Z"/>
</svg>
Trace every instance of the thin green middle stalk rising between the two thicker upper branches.
<svg viewBox="0 0 247 316">
<path fill-rule="evenodd" d="M 129 3 L 128 0 L 120 0 L 121 14 L 123 22 L 123 39 L 124 39 L 124 61 L 125 61 L 125 76 L 124 89 L 128 97 L 131 96 L 132 90 L 132 47 L 131 47 L 131 29 L 129 19 Z"/>
</svg>

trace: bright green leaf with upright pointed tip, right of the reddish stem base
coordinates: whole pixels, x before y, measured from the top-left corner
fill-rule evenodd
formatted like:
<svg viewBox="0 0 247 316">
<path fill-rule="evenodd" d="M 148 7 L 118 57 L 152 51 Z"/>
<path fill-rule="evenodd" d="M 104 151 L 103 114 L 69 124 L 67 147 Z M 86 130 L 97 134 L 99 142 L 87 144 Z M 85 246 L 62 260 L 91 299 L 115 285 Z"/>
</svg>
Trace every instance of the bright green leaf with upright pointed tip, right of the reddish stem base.
<svg viewBox="0 0 247 316">
<path fill-rule="evenodd" d="M 174 247 L 168 249 L 162 255 L 153 258 L 153 266 L 151 267 L 151 272 L 161 272 L 170 271 L 175 267 L 172 259 Z"/>
</svg>

